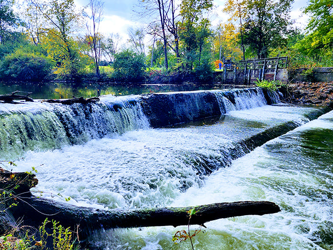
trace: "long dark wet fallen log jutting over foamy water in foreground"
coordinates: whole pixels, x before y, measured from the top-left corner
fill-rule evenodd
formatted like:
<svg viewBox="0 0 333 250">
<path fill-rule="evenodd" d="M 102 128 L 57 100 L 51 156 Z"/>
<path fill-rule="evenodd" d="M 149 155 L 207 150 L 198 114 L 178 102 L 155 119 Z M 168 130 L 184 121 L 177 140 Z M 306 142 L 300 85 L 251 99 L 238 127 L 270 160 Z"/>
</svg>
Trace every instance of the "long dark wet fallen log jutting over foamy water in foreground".
<svg viewBox="0 0 333 250">
<path fill-rule="evenodd" d="M 48 218 L 59 221 L 65 227 L 79 228 L 79 238 L 85 239 L 95 229 L 117 227 L 178 226 L 188 225 L 192 208 L 197 211 L 191 216 L 191 225 L 243 215 L 264 215 L 280 211 L 278 205 L 269 201 L 239 201 L 214 203 L 191 207 L 164 207 L 144 209 L 99 210 L 78 207 L 49 199 L 31 196 L 14 207 L 14 216 L 28 219 L 30 223 L 41 225 Z M 75 230 L 76 231 L 76 230 Z"/>
</svg>

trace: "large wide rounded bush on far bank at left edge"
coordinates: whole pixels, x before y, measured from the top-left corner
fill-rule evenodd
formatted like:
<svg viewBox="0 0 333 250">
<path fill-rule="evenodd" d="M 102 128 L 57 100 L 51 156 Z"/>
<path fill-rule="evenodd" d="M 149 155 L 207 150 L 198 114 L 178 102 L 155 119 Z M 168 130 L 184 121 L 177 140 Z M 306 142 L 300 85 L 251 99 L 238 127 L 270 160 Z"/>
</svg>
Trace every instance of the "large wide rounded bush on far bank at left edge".
<svg viewBox="0 0 333 250">
<path fill-rule="evenodd" d="M 20 50 L 5 56 L 0 77 L 16 81 L 41 81 L 50 72 L 52 62 L 46 56 Z"/>
</svg>

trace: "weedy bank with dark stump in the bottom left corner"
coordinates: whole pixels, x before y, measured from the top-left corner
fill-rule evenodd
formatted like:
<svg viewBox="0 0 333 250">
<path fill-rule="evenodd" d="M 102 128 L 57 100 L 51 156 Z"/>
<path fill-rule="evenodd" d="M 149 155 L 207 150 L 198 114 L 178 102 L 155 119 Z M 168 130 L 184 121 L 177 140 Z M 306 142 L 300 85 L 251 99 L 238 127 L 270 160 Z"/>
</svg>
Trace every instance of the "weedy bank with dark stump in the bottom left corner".
<svg viewBox="0 0 333 250">
<path fill-rule="evenodd" d="M 12 170 L 4 170 L 1 165 L 8 169 L 16 164 L 0 161 L 0 250 L 73 250 L 73 232 L 56 221 L 46 219 L 38 229 L 14 221 L 8 213 L 9 209 L 19 205 L 26 190 L 34 187 L 37 180 L 32 172 L 13 173 Z M 32 171 L 37 173 L 35 168 Z"/>
</svg>

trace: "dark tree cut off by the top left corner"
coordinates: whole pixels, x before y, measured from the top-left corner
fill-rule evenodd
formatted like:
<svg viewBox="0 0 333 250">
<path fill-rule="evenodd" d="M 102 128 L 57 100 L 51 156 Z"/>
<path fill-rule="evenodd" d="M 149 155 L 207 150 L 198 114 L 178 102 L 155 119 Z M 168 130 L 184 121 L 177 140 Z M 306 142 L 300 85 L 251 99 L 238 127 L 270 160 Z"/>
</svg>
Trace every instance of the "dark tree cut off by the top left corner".
<svg viewBox="0 0 333 250">
<path fill-rule="evenodd" d="M 18 19 L 13 11 L 14 0 L 0 0 L 0 44 L 3 44 L 11 28 L 16 26 Z"/>
</svg>

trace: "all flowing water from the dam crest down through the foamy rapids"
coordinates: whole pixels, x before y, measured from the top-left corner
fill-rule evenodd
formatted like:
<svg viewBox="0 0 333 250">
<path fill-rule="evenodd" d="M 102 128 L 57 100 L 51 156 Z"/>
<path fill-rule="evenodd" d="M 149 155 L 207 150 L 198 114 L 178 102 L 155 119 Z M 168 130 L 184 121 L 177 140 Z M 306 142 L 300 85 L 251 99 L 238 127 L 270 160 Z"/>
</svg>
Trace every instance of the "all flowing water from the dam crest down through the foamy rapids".
<svg viewBox="0 0 333 250">
<path fill-rule="evenodd" d="M 207 223 L 195 250 L 332 249 L 327 111 L 284 105 L 261 89 L 0 104 L 0 160 L 18 159 L 18 171 L 36 168 L 36 192 L 80 206 L 269 200 L 282 210 Z M 188 250 L 189 241 L 172 242 L 186 228 L 101 229 L 92 248 Z"/>
</svg>

